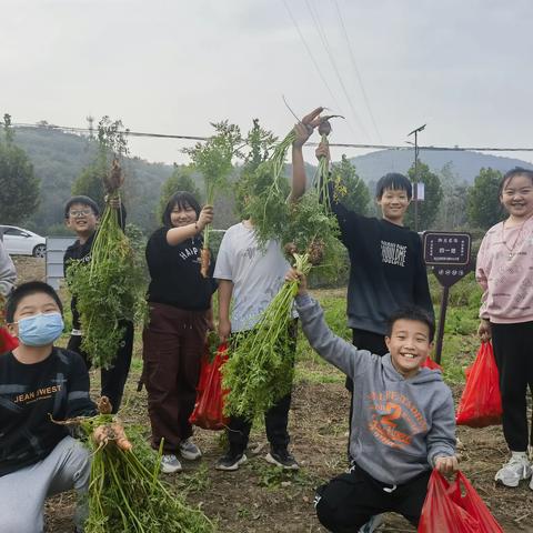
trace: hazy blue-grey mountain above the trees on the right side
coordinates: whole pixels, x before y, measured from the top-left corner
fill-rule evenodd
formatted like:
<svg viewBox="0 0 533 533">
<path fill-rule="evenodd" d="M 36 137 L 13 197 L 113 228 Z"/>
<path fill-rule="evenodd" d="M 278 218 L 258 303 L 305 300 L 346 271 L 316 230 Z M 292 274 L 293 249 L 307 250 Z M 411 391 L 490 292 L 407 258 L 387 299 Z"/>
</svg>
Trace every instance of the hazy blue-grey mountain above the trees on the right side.
<svg viewBox="0 0 533 533">
<path fill-rule="evenodd" d="M 433 172 L 439 172 L 451 162 L 453 172 L 459 175 L 459 181 L 472 184 L 482 168 L 492 168 L 506 172 L 514 167 L 533 169 L 533 164 L 520 159 L 489 155 L 480 152 L 462 150 L 421 150 L 419 160 L 428 164 Z M 358 174 L 366 182 L 376 182 L 388 172 L 406 173 L 414 161 L 413 150 L 381 150 L 351 158 L 350 161 L 358 169 Z"/>
</svg>

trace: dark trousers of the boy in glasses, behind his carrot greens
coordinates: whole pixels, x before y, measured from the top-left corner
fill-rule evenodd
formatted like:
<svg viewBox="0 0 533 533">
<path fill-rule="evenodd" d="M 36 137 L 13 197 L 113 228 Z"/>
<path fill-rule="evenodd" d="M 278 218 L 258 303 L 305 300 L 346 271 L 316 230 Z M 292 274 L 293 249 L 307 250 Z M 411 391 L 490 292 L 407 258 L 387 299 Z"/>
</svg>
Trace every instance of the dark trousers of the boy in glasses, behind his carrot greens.
<svg viewBox="0 0 533 533">
<path fill-rule="evenodd" d="M 113 414 L 119 411 L 122 402 L 125 381 L 130 372 L 131 354 L 133 352 L 133 323 L 123 321 L 120 322 L 120 326 L 124 328 L 124 334 L 117 351 L 114 364 L 108 370 L 100 370 L 100 394 L 109 398 Z M 92 365 L 91 360 L 80 348 L 82 339 L 81 335 L 70 335 L 67 349 L 79 353 L 86 362 L 87 370 L 90 370 Z"/>
</svg>

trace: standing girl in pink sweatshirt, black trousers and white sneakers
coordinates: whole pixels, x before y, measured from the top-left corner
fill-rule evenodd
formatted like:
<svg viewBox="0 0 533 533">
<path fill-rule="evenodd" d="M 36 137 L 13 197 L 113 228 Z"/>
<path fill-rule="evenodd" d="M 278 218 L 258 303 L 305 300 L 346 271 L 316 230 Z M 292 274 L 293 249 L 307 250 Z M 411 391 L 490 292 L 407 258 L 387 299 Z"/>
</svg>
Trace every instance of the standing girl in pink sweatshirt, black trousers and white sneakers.
<svg viewBox="0 0 533 533">
<path fill-rule="evenodd" d="M 479 333 L 483 341 L 492 338 L 511 451 L 495 481 L 517 486 L 532 475 L 526 393 L 527 385 L 533 392 L 533 171 L 509 171 L 500 201 L 509 217 L 486 232 L 477 255 L 475 275 L 484 291 Z"/>
</svg>

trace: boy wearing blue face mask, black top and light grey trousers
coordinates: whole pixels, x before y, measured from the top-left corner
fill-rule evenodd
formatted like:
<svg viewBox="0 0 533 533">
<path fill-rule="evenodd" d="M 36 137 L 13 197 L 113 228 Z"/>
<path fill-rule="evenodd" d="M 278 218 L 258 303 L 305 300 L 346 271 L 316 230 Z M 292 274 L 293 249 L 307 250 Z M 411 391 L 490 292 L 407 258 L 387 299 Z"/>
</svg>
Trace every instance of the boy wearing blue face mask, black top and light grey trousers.
<svg viewBox="0 0 533 533">
<path fill-rule="evenodd" d="M 56 291 L 40 281 L 17 288 L 6 305 L 19 346 L 0 358 L 0 531 L 41 533 L 47 496 L 86 492 L 90 457 L 66 420 L 95 414 L 80 355 L 53 345 L 63 331 Z M 78 530 L 83 522 L 80 507 Z"/>
</svg>

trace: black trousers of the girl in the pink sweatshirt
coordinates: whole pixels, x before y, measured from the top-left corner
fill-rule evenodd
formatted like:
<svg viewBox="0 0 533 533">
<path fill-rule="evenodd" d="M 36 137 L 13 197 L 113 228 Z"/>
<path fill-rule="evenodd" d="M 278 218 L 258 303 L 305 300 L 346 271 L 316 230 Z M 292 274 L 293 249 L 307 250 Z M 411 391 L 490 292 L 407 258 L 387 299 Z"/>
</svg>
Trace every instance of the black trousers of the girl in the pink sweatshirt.
<svg viewBox="0 0 533 533">
<path fill-rule="evenodd" d="M 527 432 L 527 386 L 533 394 L 533 322 L 494 324 L 492 345 L 500 371 L 503 434 L 511 451 L 525 452 L 533 443 Z M 531 439 L 531 440 L 530 440 Z"/>
</svg>

